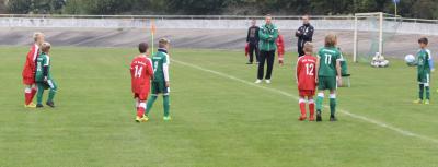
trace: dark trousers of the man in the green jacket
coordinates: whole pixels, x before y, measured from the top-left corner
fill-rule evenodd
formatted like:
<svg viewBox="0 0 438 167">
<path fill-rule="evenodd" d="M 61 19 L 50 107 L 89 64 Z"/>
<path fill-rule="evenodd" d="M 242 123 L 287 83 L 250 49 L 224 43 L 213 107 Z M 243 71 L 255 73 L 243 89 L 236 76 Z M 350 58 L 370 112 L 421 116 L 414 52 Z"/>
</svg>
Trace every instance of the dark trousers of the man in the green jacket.
<svg viewBox="0 0 438 167">
<path fill-rule="evenodd" d="M 264 72 L 265 72 L 265 62 L 267 64 L 267 70 L 266 70 L 266 80 L 270 80 L 270 75 L 273 74 L 273 68 L 274 68 L 274 59 L 275 59 L 275 50 L 270 51 L 264 51 L 261 50 L 260 59 L 258 59 L 258 72 L 257 72 L 257 79 L 262 80 Z"/>
</svg>

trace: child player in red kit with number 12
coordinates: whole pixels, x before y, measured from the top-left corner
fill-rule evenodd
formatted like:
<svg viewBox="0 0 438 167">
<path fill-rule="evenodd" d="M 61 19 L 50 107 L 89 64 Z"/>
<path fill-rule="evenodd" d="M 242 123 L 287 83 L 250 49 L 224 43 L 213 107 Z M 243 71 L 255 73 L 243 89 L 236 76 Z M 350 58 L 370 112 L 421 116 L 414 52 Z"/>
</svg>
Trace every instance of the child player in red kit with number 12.
<svg viewBox="0 0 438 167">
<path fill-rule="evenodd" d="M 310 117 L 309 121 L 314 121 L 314 102 L 313 96 L 315 94 L 316 88 L 316 58 L 312 56 L 313 45 L 311 43 L 304 44 L 304 52 L 303 57 L 299 57 L 297 61 L 297 83 L 298 91 L 300 95 L 299 104 L 301 116 L 299 120 L 306 120 L 306 97 L 309 100 L 309 110 Z"/>
</svg>

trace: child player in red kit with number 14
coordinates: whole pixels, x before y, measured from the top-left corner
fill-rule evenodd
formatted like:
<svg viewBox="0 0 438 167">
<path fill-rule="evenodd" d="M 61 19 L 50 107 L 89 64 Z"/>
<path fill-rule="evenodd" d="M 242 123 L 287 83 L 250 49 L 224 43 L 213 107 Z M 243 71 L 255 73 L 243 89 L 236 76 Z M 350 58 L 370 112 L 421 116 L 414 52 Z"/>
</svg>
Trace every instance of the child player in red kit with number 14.
<svg viewBox="0 0 438 167">
<path fill-rule="evenodd" d="M 146 102 L 150 92 L 150 81 L 153 79 L 152 61 L 148 58 L 149 46 L 147 43 L 138 45 L 140 55 L 130 63 L 131 88 L 136 99 L 137 122 L 148 121 L 145 117 Z"/>
</svg>

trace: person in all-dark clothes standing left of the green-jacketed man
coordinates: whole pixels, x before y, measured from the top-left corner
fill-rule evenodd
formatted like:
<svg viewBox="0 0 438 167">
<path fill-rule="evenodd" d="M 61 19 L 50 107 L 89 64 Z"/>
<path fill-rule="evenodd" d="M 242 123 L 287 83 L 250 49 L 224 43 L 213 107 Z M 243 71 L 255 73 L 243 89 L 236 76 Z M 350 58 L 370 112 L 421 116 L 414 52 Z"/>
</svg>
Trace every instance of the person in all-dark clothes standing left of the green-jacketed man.
<svg viewBox="0 0 438 167">
<path fill-rule="evenodd" d="M 251 21 L 251 27 L 247 29 L 246 43 L 250 51 L 250 61 L 246 64 L 252 64 L 254 62 L 254 53 L 255 60 L 258 63 L 258 31 L 260 27 L 256 26 L 256 21 Z"/>
</svg>

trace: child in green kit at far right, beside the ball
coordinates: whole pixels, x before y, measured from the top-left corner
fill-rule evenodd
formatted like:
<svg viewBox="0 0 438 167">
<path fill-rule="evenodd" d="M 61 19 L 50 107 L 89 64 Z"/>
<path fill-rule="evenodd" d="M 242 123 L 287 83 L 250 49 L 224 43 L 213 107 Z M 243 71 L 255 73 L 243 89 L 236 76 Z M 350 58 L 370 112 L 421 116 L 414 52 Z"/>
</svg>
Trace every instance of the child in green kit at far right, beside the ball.
<svg viewBox="0 0 438 167">
<path fill-rule="evenodd" d="M 430 102 L 430 51 L 426 49 L 428 45 L 428 39 L 422 37 L 418 39 L 419 50 L 417 52 L 417 58 L 415 64 L 417 65 L 417 81 L 419 85 L 419 98 L 414 100 L 415 104 L 426 104 Z M 424 99 L 424 92 L 426 90 L 426 99 Z"/>
</svg>

